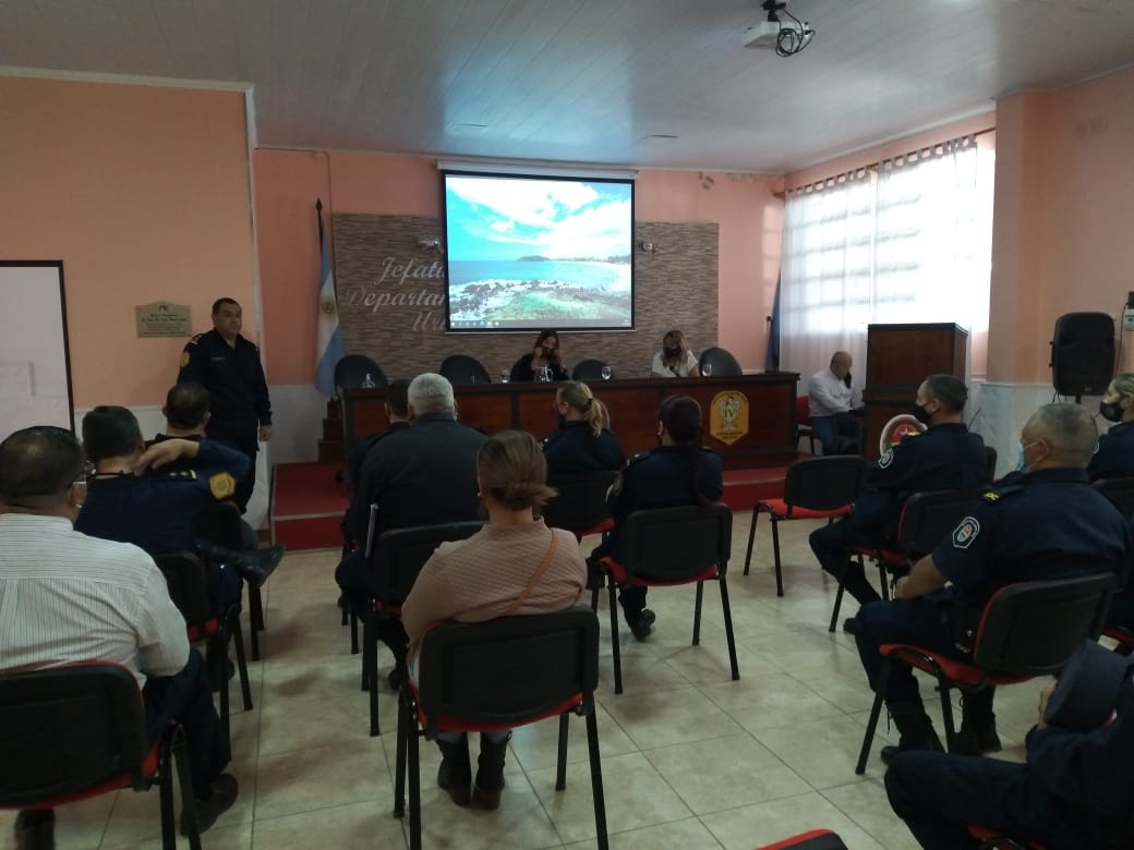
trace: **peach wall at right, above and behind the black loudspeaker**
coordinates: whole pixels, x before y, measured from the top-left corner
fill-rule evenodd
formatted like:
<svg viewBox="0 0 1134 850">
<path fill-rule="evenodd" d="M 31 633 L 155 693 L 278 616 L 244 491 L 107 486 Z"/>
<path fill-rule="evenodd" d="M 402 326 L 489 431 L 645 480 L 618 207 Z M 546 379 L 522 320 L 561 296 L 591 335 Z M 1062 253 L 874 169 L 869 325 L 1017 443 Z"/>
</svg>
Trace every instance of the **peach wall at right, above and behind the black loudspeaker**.
<svg viewBox="0 0 1134 850">
<path fill-rule="evenodd" d="M 989 377 L 1047 382 L 1056 318 L 1134 289 L 1134 70 L 1006 97 L 997 127 Z"/>
</svg>

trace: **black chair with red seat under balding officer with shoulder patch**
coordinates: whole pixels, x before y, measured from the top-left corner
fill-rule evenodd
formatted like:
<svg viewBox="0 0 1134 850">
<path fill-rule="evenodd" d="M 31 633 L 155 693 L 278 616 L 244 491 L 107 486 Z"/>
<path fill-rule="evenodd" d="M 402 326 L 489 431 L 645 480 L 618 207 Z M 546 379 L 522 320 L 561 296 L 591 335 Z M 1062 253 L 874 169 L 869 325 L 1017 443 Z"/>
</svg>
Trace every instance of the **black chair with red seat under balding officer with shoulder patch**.
<svg viewBox="0 0 1134 850">
<path fill-rule="evenodd" d="M 980 691 L 1057 673 L 1083 640 L 1099 637 L 1114 589 L 1111 572 L 1001 587 L 984 606 L 971 662 L 913 644 L 883 644 L 882 674 L 855 773 L 866 771 L 882 711 L 882 694 L 894 664 L 905 664 L 937 678 L 946 747 L 951 751 L 956 731 L 949 691 L 954 688 L 962 692 Z"/>
</svg>

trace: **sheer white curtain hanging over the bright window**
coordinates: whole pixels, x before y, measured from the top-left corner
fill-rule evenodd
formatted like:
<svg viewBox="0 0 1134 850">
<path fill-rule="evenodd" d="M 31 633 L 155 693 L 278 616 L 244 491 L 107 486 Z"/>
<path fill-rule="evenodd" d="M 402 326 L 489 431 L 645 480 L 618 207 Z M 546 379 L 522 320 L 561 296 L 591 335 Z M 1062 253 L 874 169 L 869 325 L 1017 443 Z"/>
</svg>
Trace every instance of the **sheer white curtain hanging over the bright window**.
<svg viewBox="0 0 1134 850">
<path fill-rule="evenodd" d="M 792 193 L 780 368 L 803 383 L 846 350 L 861 390 L 866 325 L 955 322 L 970 332 L 971 372 L 982 375 L 991 252 L 992 152 L 973 137 Z"/>
</svg>

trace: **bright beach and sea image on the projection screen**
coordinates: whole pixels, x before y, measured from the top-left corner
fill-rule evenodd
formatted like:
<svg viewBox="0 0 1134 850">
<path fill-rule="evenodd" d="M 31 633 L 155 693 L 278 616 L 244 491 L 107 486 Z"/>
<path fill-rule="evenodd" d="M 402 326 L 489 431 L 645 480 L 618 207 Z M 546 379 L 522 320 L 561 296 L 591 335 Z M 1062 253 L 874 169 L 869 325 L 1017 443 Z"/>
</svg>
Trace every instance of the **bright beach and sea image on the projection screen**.
<svg viewBox="0 0 1134 850">
<path fill-rule="evenodd" d="M 449 328 L 633 325 L 633 185 L 445 176 Z"/>
</svg>

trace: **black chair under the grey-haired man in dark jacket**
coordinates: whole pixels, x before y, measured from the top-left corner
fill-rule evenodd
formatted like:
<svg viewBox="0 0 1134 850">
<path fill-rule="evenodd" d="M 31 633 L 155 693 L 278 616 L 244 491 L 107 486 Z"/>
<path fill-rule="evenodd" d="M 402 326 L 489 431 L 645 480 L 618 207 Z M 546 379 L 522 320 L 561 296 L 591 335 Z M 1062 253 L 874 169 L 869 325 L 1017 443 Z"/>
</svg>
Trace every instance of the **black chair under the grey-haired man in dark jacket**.
<svg viewBox="0 0 1134 850">
<path fill-rule="evenodd" d="M 413 589 L 417 573 L 437 547 L 449 541 L 472 537 L 483 522 L 448 522 L 435 526 L 395 528 L 382 533 L 370 552 L 378 596 L 367 606 L 362 629 L 362 687 L 370 690 L 370 734 L 381 734 L 378 717 L 378 622 L 380 618 L 400 619 L 401 603 Z M 401 681 L 406 679 L 406 660 L 396 657 L 395 669 Z"/>
</svg>

